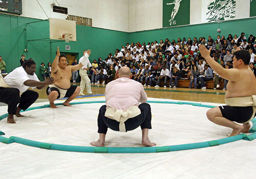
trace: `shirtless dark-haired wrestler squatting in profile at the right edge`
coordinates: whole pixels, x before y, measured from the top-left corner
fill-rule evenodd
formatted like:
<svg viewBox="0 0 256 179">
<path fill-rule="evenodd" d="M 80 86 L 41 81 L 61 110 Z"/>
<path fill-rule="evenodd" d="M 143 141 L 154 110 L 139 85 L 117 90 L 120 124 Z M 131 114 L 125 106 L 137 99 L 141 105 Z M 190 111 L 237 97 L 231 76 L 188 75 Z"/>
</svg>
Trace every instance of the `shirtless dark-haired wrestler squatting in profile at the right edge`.
<svg viewBox="0 0 256 179">
<path fill-rule="evenodd" d="M 234 52 L 233 69 L 224 69 L 210 57 L 211 49 L 207 50 L 203 45 L 200 45 L 199 50 L 212 70 L 228 80 L 225 94 L 226 106 L 208 110 L 207 118 L 216 124 L 232 128 L 233 131 L 230 136 L 239 135 L 240 132 L 249 132 L 249 121 L 255 117 L 256 112 L 256 79 L 253 72 L 248 68 L 249 52 L 246 50 Z"/>
</svg>

